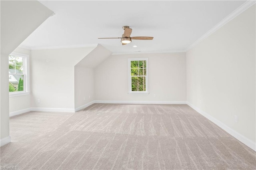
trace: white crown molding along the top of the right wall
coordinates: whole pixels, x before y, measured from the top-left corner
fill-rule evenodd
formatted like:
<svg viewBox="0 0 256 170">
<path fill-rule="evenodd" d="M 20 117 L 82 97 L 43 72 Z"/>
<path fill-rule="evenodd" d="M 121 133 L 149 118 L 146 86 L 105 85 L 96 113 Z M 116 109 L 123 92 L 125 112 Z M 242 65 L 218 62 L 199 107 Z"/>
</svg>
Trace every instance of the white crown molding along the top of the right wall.
<svg viewBox="0 0 256 170">
<path fill-rule="evenodd" d="M 250 8 L 250 6 L 254 5 L 255 2 L 256 2 L 255 0 L 248 0 L 248 1 L 244 2 L 244 4 L 242 4 L 240 7 L 238 7 L 231 14 L 226 16 L 226 18 L 221 20 L 216 26 L 214 26 L 212 29 L 210 29 L 208 32 L 206 32 L 202 37 L 200 37 L 198 40 L 196 40 L 194 43 L 192 43 L 190 46 L 188 46 L 188 48 L 186 48 L 185 51 L 192 49 L 194 46 L 196 46 L 202 40 L 204 40 L 205 38 L 210 36 L 212 33 L 217 31 L 218 29 L 220 29 L 222 26 L 224 26 L 228 22 L 230 22 L 233 18 L 235 18 L 236 16 L 238 16 L 239 14 L 241 14 L 242 12 L 244 12 L 245 10 Z"/>
</svg>

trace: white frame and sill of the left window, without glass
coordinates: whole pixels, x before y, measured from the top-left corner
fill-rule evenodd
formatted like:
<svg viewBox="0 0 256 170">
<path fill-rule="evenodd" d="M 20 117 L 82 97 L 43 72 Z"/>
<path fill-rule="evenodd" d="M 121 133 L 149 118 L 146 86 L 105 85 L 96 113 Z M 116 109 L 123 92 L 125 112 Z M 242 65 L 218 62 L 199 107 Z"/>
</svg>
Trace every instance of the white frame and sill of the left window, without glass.
<svg viewBox="0 0 256 170">
<path fill-rule="evenodd" d="M 23 57 L 23 91 L 14 91 L 9 92 L 9 97 L 16 97 L 16 96 L 22 96 L 22 95 L 29 95 L 30 94 L 30 76 L 29 76 L 29 55 L 23 54 L 23 53 L 16 53 L 12 52 L 10 55 L 16 56 L 16 57 Z M 8 55 L 9 57 L 9 55 Z M 8 59 L 9 61 L 9 59 Z M 10 73 L 8 73 L 10 75 Z M 13 74 L 11 74 L 13 75 Z"/>
</svg>

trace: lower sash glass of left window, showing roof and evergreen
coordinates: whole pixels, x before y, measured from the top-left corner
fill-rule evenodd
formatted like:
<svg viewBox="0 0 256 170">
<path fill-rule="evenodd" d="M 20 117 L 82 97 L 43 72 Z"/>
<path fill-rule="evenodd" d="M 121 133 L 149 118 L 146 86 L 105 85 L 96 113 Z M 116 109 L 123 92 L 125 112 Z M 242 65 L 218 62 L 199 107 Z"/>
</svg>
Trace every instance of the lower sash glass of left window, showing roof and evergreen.
<svg viewBox="0 0 256 170">
<path fill-rule="evenodd" d="M 9 92 L 24 91 L 24 75 L 9 75 Z"/>
</svg>

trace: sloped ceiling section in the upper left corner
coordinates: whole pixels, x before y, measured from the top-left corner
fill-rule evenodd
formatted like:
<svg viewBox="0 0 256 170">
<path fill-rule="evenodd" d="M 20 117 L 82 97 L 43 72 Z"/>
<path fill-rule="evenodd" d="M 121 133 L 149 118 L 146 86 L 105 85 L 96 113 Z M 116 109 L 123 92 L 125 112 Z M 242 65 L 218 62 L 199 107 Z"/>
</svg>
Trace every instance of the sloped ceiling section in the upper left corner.
<svg viewBox="0 0 256 170">
<path fill-rule="evenodd" d="M 38 1 L 1 1 L 1 53 L 9 55 L 50 15 Z"/>
</svg>

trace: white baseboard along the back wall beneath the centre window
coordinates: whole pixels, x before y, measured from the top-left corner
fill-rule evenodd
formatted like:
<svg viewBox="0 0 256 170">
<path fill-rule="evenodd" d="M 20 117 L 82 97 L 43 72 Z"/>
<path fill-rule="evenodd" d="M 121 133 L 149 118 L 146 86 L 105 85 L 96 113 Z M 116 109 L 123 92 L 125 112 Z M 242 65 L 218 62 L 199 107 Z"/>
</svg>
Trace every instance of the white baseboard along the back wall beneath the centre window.
<svg viewBox="0 0 256 170">
<path fill-rule="evenodd" d="M 106 101 L 96 100 L 94 103 L 109 103 L 109 104 L 187 104 L 186 101 Z"/>
</svg>

